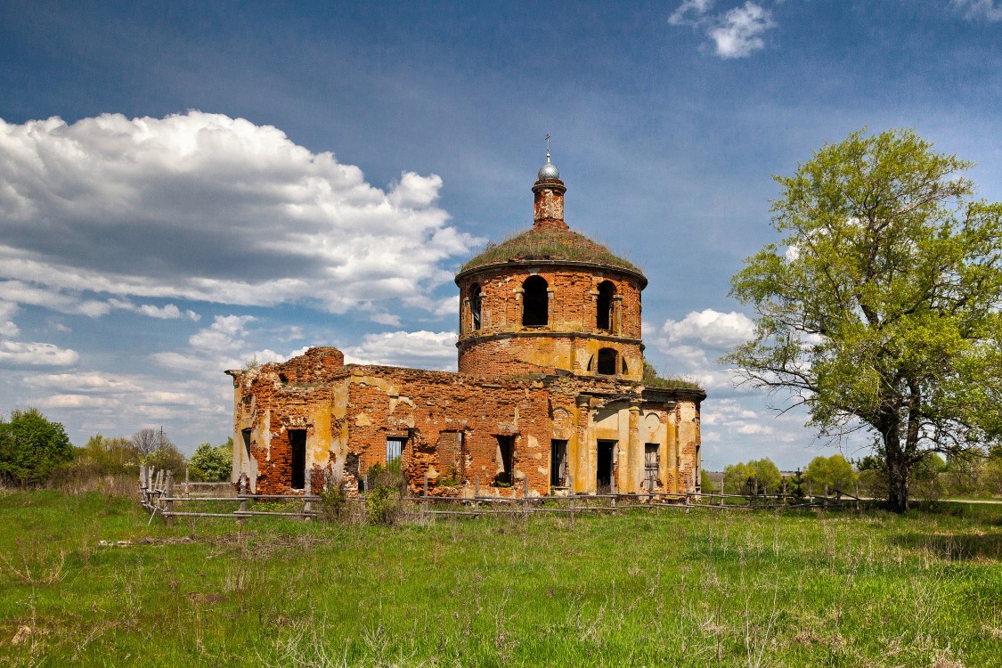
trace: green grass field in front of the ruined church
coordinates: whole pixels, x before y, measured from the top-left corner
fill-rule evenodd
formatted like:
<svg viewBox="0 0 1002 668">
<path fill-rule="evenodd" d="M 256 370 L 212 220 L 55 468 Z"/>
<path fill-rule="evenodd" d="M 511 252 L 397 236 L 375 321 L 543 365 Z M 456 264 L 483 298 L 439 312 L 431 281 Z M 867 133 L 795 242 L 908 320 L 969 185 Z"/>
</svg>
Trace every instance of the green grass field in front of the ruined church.
<svg viewBox="0 0 1002 668">
<path fill-rule="evenodd" d="M 1002 666 L 998 506 L 146 520 L 0 491 L 0 664 Z"/>
</svg>

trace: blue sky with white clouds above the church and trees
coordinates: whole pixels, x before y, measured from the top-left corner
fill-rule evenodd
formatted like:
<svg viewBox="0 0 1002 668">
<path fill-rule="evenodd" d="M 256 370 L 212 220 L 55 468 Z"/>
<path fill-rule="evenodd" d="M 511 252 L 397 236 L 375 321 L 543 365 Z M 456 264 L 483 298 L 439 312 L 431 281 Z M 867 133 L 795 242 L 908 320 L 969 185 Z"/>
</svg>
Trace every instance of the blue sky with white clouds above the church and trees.
<svg viewBox="0 0 1002 668">
<path fill-rule="evenodd" d="M 455 369 L 455 269 L 531 221 L 641 265 L 647 355 L 704 463 L 822 453 L 713 364 L 772 174 L 863 126 L 1002 199 L 999 0 L 0 5 L 0 411 L 74 443 L 230 429 L 222 371 L 334 345 Z M 849 454 L 857 453 L 854 444 Z"/>
</svg>

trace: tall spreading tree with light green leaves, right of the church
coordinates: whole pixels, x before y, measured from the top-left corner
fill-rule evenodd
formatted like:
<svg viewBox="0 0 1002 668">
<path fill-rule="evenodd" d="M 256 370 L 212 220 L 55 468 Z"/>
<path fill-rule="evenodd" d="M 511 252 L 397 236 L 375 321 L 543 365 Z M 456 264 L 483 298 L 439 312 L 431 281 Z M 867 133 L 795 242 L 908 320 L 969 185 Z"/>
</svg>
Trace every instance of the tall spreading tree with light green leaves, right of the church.
<svg viewBox="0 0 1002 668">
<path fill-rule="evenodd" d="M 725 360 L 823 437 L 870 431 L 900 512 L 917 464 L 1002 424 L 1002 204 L 973 198 L 970 166 L 909 130 L 826 145 L 776 177 L 782 238 L 731 279 L 757 332 Z"/>
</svg>

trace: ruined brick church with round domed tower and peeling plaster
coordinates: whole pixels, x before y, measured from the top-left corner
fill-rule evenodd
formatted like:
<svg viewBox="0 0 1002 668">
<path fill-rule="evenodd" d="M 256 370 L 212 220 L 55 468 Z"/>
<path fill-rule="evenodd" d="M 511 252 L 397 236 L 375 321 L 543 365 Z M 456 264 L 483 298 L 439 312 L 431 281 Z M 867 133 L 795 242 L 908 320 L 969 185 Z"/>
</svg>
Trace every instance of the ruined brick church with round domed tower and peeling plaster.
<svg viewBox="0 0 1002 668">
<path fill-rule="evenodd" d="M 227 371 L 233 482 L 352 491 L 379 464 L 446 496 L 698 491 L 706 395 L 645 381 L 647 279 L 568 228 L 565 191 L 547 151 L 532 228 L 456 274 L 458 373 L 346 365 L 335 348 Z"/>
</svg>

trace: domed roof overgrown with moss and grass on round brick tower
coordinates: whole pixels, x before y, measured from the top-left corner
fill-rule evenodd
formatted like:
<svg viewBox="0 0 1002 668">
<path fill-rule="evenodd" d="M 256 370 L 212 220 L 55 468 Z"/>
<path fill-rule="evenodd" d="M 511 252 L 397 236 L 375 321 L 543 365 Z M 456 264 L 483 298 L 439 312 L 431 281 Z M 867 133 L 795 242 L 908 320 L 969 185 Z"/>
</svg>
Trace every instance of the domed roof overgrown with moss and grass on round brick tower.
<svg viewBox="0 0 1002 668">
<path fill-rule="evenodd" d="M 607 264 L 642 274 L 633 263 L 614 255 L 605 246 L 570 229 L 538 228 L 521 232 L 501 243 L 488 243 L 482 253 L 460 268 L 460 273 L 507 261 L 569 260 Z"/>
</svg>

